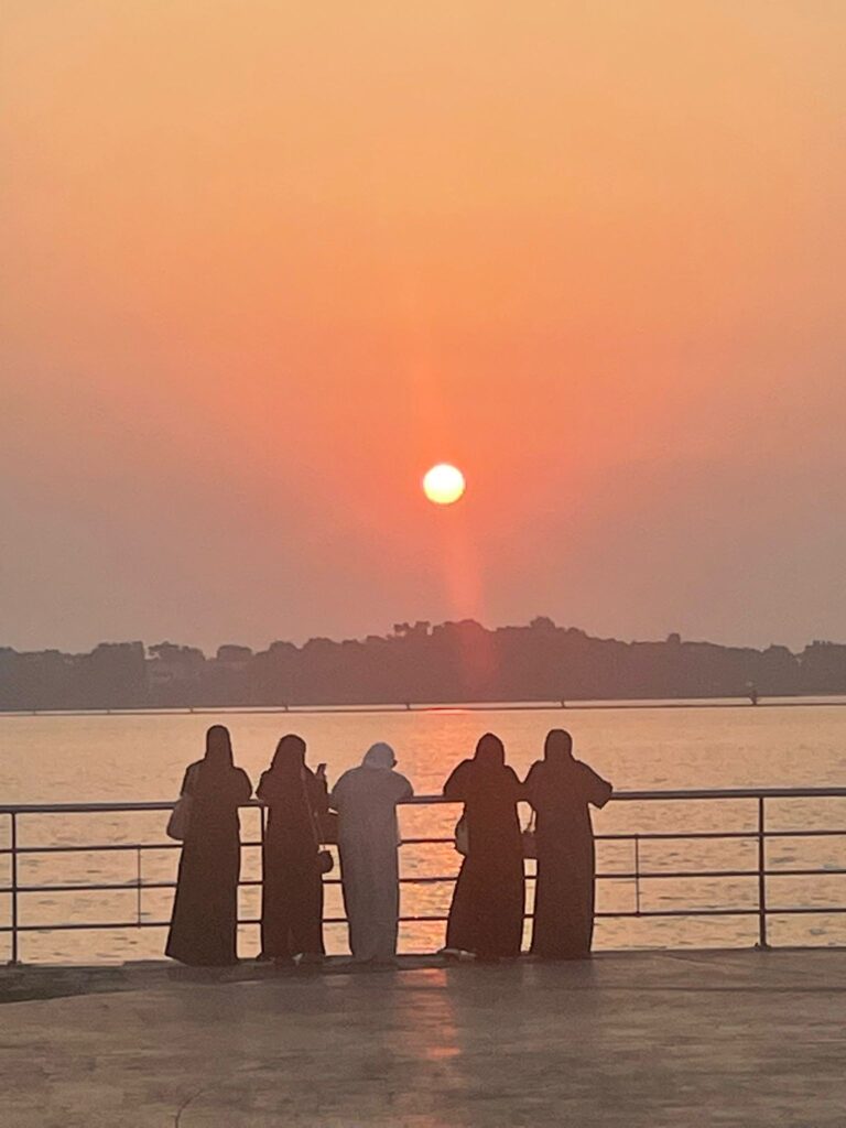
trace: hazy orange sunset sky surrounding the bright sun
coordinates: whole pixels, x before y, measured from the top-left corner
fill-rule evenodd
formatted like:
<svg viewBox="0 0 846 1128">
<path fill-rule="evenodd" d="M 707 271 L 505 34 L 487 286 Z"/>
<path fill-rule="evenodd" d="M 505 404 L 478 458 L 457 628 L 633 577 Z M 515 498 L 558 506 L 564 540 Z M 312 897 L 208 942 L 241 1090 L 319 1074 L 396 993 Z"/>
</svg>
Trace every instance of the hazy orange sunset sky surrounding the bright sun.
<svg viewBox="0 0 846 1128">
<path fill-rule="evenodd" d="M 843 0 L 1 18 L 0 644 L 846 638 Z"/>
</svg>

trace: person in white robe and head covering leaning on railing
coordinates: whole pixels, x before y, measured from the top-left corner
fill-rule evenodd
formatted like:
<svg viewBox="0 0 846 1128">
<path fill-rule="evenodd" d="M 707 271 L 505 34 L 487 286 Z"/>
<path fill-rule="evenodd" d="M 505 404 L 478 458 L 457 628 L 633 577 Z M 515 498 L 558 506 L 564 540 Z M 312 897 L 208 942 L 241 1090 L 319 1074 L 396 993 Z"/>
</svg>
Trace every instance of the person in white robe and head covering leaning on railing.
<svg viewBox="0 0 846 1128">
<path fill-rule="evenodd" d="M 399 864 L 397 803 L 411 783 L 394 770 L 389 744 L 378 743 L 345 772 L 329 796 L 338 812 L 338 852 L 350 950 L 361 963 L 391 963 L 397 951 Z"/>
</svg>

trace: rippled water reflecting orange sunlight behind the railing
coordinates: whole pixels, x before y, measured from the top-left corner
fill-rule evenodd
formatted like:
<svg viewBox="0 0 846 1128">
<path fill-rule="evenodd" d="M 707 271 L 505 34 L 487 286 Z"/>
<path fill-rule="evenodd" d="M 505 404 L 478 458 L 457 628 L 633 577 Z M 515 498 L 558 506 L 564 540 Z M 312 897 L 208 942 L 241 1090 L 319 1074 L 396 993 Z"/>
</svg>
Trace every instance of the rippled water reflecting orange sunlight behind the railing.
<svg viewBox="0 0 846 1128">
<path fill-rule="evenodd" d="M 846 708 L 825 705 L 766 705 L 758 708 L 713 706 L 626 710 L 460 710 L 361 714 L 199 714 L 0 716 L 0 802 L 156 801 L 176 796 L 185 765 L 202 755 L 203 734 L 214 721 L 228 724 L 238 763 L 254 781 L 267 766 L 277 738 L 301 733 L 309 763 L 325 760 L 331 781 L 359 763 L 376 740 L 394 744 L 399 768 L 420 794 L 440 791 L 452 766 L 469 755 L 481 733 L 491 730 L 505 741 L 510 763 L 523 775 L 540 755 L 546 731 L 565 724 L 580 758 L 588 760 L 618 790 L 720 788 L 739 786 L 800 787 L 846 785 Z M 407 837 L 449 835 L 457 809 L 407 808 L 402 813 Z M 755 825 L 755 804 L 747 801 L 697 803 L 611 803 L 594 819 L 602 832 L 644 830 L 744 830 Z M 768 807 L 773 828 L 846 828 L 846 801 L 785 800 Z M 0 818 L 0 841 L 8 845 L 8 819 Z M 257 817 L 244 816 L 244 838 L 255 840 Z M 32 816 L 21 819 L 21 845 L 94 845 L 121 841 L 161 843 L 161 812 L 124 814 Z M 821 865 L 846 867 L 846 839 L 779 838 L 768 844 L 773 870 Z M 144 884 L 173 880 L 178 852 L 149 851 L 141 860 Z M 407 876 L 453 874 L 457 855 L 450 846 L 406 846 L 402 852 Z M 755 865 L 754 841 L 642 843 L 641 872 L 668 870 L 749 869 Z M 599 870 L 611 875 L 600 882 L 600 911 L 632 910 L 635 882 L 614 879 L 633 869 L 631 843 L 602 843 Z M 244 876 L 258 876 L 258 852 L 245 849 Z M 337 871 L 332 875 L 337 878 Z M 0 857 L 0 884 L 8 885 L 9 860 Z M 50 922 L 135 922 L 139 914 L 138 855 L 80 852 L 29 855 L 21 860 L 19 881 L 27 885 L 74 882 L 125 882 L 120 891 L 29 893 L 20 899 L 23 924 Z M 448 884 L 404 887 L 403 911 L 446 913 Z M 826 907 L 846 904 L 846 875 L 823 878 L 773 876 L 767 884 L 772 906 Z M 144 889 L 140 913 L 148 922 L 169 915 L 170 890 Z M 757 883 L 749 878 L 645 879 L 640 907 L 684 909 L 752 907 Z M 257 890 L 241 892 L 245 916 L 257 913 Z M 337 885 L 327 889 L 328 916 L 341 915 Z M 10 898 L 0 893 L 0 924 L 7 924 Z M 440 924 L 408 924 L 402 929 L 405 950 L 425 951 L 442 943 Z M 256 950 L 256 929 L 245 927 L 241 954 Z M 602 919 L 597 948 L 738 946 L 757 938 L 754 917 L 670 917 L 664 919 Z M 773 943 L 846 943 L 846 917 L 832 914 L 775 917 Z M 343 926 L 327 927 L 331 951 L 345 950 Z M 0 935 L 0 957 L 8 936 Z M 27 933 L 23 957 L 28 961 L 120 961 L 159 957 L 164 931 L 80 931 Z"/>
</svg>

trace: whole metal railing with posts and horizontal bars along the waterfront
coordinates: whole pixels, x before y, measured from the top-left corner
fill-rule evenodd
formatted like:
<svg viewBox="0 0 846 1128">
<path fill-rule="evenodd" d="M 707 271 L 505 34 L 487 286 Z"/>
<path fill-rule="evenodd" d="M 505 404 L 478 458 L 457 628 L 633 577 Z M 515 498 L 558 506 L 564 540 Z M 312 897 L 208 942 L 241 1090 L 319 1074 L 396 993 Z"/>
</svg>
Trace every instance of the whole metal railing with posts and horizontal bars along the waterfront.
<svg viewBox="0 0 846 1128">
<path fill-rule="evenodd" d="M 616 792 L 613 802 L 690 802 L 690 801 L 729 801 L 742 800 L 754 804 L 752 826 L 734 830 L 643 830 L 598 834 L 598 843 L 627 843 L 632 848 L 632 866 L 622 871 L 598 872 L 598 881 L 628 881 L 634 885 L 635 904 L 633 909 L 599 911 L 598 918 L 660 918 L 660 917 L 757 917 L 757 946 L 768 948 L 768 920 L 772 917 L 818 914 L 822 916 L 838 915 L 846 913 L 846 904 L 838 905 L 777 905 L 774 906 L 768 900 L 767 881 L 772 878 L 830 878 L 838 874 L 846 874 L 846 866 L 827 864 L 825 866 L 801 866 L 801 867 L 770 867 L 767 862 L 767 844 L 775 839 L 814 839 L 814 838 L 841 838 L 846 840 L 846 819 L 844 825 L 825 828 L 796 827 L 787 829 L 770 829 L 767 825 L 767 803 L 774 800 L 820 800 L 820 799 L 846 799 L 846 787 L 774 787 L 774 788 L 726 788 L 711 791 L 628 791 Z M 449 801 L 440 795 L 421 795 L 408 800 L 404 805 L 420 807 L 428 804 L 444 804 Z M 452 804 L 455 805 L 455 804 Z M 20 844 L 21 820 L 33 816 L 50 814 L 107 814 L 107 813 L 139 813 L 171 810 L 173 802 L 157 803 L 29 803 L 15 805 L 0 805 L 0 817 L 9 819 L 8 846 L 0 847 L 0 857 L 9 858 L 9 883 L 0 885 L 0 896 L 10 898 L 10 909 L 8 923 L 0 924 L 0 933 L 11 934 L 10 960 L 15 964 L 20 960 L 21 936 L 26 933 L 47 932 L 70 932 L 70 931 L 96 931 L 125 928 L 166 928 L 168 920 L 150 920 L 143 917 L 143 893 L 153 889 L 175 889 L 175 881 L 148 881 L 143 876 L 143 856 L 149 851 L 173 851 L 180 849 L 179 843 L 174 841 L 150 841 L 150 843 L 52 843 L 47 845 L 25 846 Z M 255 800 L 244 804 L 244 808 L 252 808 L 263 811 L 263 808 Z M 262 814 L 259 826 L 262 835 L 257 841 L 244 841 L 244 847 L 261 847 L 264 834 L 264 817 Z M 641 848 L 645 843 L 682 843 L 682 841 L 747 841 L 755 844 L 756 864 L 754 867 L 738 869 L 643 869 L 641 864 Z M 444 837 L 422 837 L 404 838 L 404 845 L 444 845 L 452 843 L 452 838 Z M 24 857 L 42 854 L 112 854 L 112 853 L 134 853 L 135 876 L 126 882 L 70 882 L 51 884 L 24 884 L 20 881 L 20 861 Z M 534 880 L 534 874 L 527 874 L 529 881 Z M 748 879 L 755 883 L 756 896 L 754 905 L 726 905 L 720 907 L 685 906 L 682 908 L 652 908 L 642 907 L 642 883 L 645 881 L 696 881 L 704 879 Z M 326 884 L 340 884 L 337 878 L 324 879 Z M 403 884 L 439 884 L 455 882 L 455 875 L 438 874 L 433 876 L 403 876 Z M 240 887 L 261 885 L 258 880 L 243 880 Z M 79 892 L 135 892 L 135 919 L 134 920 L 100 920 L 100 922 L 69 922 L 59 920 L 52 923 L 25 924 L 20 919 L 21 901 L 25 898 L 44 893 L 79 893 Z M 846 901 L 846 898 L 844 898 Z M 403 923 L 437 923 L 446 920 L 443 915 L 412 915 L 400 916 Z M 325 924 L 344 924 L 344 917 L 326 917 Z M 261 920 L 249 917 L 239 918 L 239 925 L 258 925 Z"/>
</svg>

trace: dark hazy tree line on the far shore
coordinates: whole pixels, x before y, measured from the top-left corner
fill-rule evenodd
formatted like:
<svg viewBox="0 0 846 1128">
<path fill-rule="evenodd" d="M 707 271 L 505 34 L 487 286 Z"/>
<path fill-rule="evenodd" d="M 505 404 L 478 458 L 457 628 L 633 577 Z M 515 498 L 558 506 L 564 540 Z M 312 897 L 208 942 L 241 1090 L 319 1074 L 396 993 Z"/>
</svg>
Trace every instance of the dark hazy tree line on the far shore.
<svg viewBox="0 0 846 1128">
<path fill-rule="evenodd" d="M 735 697 L 846 693 L 846 645 L 719 646 L 593 638 L 540 617 L 488 631 L 399 623 L 387 636 L 214 658 L 162 642 L 100 643 L 89 654 L 0 647 L 0 710 L 423 704 L 470 700 Z"/>
</svg>

